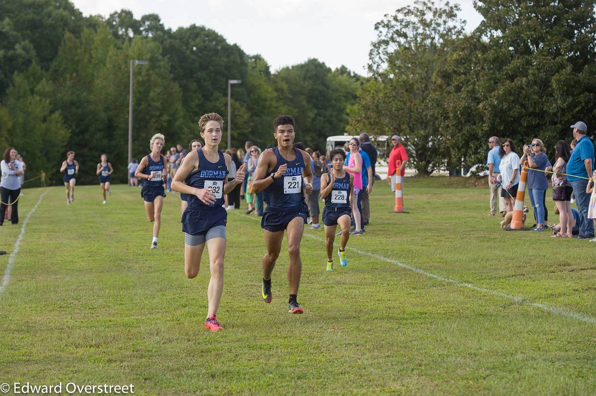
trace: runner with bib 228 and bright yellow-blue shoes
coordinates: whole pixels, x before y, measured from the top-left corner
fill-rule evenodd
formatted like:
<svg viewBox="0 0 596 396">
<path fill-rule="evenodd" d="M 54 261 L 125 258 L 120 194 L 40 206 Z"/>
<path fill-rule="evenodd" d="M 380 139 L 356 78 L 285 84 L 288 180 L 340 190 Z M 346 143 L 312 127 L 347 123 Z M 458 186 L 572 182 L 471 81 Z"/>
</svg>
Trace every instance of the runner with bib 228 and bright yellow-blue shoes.
<svg viewBox="0 0 596 396">
<path fill-rule="evenodd" d="M 333 169 L 321 175 L 321 198 L 325 198 L 323 224 L 325 224 L 325 250 L 327 251 L 327 271 L 333 271 L 333 242 L 337 224 L 342 229 L 342 242 L 337 255 L 342 267 L 347 266 L 346 245 L 350 238 L 350 213 L 354 202 L 354 176 L 344 172 L 343 162 L 346 153 L 334 149 L 329 154 Z"/>
</svg>

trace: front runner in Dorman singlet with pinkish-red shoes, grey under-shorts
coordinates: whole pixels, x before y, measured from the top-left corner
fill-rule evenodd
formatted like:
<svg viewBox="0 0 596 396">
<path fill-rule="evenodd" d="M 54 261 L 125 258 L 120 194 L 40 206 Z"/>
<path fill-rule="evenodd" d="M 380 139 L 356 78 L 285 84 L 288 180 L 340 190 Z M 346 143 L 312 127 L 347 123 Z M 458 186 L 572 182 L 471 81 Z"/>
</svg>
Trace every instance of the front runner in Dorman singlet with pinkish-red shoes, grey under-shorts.
<svg viewBox="0 0 596 396">
<path fill-rule="evenodd" d="M 207 289 L 207 319 L 204 326 L 211 331 L 224 330 L 217 311 L 224 289 L 225 226 L 228 212 L 222 207 L 224 195 L 244 181 L 246 164 L 228 182 L 232 158 L 218 149 L 224 119 L 217 113 L 204 114 L 198 120 L 203 148 L 191 151 L 178 168 L 172 189 L 187 194 L 188 207 L 182 213 L 184 236 L 184 272 L 187 277 L 198 275 L 205 245 L 209 251 L 211 277 Z"/>
</svg>

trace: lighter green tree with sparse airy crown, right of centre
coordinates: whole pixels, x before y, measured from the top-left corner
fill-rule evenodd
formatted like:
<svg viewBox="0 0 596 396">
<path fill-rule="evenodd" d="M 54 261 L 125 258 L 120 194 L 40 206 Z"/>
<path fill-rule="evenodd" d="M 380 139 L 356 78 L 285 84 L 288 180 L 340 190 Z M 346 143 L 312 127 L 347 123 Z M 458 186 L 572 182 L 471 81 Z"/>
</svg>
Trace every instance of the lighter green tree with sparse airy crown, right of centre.
<svg viewBox="0 0 596 396">
<path fill-rule="evenodd" d="M 445 167 L 449 157 L 442 123 L 445 96 L 440 70 L 463 34 L 460 7 L 417 0 L 375 24 L 370 80 L 352 111 L 352 129 L 383 120 L 387 135 L 402 136 L 419 174 Z M 375 92 L 375 89 L 379 91 Z"/>
</svg>

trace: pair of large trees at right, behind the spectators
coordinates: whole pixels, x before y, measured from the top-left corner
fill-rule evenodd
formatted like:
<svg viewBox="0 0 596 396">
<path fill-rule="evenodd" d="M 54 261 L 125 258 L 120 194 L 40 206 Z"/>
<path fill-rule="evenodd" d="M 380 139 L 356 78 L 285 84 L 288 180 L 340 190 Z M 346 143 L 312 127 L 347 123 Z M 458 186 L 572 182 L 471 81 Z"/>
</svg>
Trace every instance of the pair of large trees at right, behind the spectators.
<svg viewBox="0 0 596 396">
<path fill-rule="evenodd" d="M 486 163 L 493 135 L 542 139 L 553 158 L 571 124 L 596 127 L 594 6 L 476 0 L 483 21 L 470 33 L 449 2 L 385 15 L 348 129 L 401 135 L 420 174 Z"/>
</svg>

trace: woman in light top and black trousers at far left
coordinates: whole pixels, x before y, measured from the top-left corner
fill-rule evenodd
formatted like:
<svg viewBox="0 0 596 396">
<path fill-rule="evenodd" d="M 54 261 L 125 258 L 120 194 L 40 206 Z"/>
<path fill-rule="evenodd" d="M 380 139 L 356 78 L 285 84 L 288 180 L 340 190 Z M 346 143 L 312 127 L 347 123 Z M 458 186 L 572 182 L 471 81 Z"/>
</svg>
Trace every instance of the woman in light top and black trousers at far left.
<svg viewBox="0 0 596 396">
<path fill-rule="evenodd" d="M 11 223 L 18 224 L 18 195 L 21 194 L 19 176 L 24 174 L 23 163 L 17 161 L 17 151 L 9 147 L 0 162 L 2 181 L 0 182 L 0 226 L 4 223 L 4 213 L 12 202 Z"/>
</svg>

